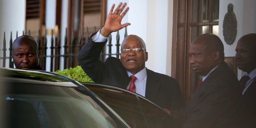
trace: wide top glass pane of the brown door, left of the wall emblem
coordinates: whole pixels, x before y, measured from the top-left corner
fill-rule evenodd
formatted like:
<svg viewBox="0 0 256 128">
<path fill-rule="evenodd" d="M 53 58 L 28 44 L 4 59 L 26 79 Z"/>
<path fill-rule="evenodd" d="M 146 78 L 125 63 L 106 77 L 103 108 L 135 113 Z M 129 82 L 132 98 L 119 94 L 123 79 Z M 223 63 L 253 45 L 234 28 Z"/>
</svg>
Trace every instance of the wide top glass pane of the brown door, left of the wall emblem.
<svg viewBox="0 0 256 128">
<path fill-rule="evenodd" d="M 192 23 L 209 22 L 208 0 L 191 0 L 192 2 Z"/>
</svg>

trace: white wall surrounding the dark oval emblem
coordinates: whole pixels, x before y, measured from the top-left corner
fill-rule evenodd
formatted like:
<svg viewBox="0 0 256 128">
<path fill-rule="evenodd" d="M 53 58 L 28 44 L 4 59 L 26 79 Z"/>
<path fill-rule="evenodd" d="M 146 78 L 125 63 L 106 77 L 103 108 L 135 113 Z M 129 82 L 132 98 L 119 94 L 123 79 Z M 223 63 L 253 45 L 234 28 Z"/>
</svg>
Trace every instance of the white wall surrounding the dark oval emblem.
<svg viewBox="0 0 256 128">
<path fill-rule="evenodd" d="M 224 45 L 225 56 L 235 56 L 237 41 L 248 33 L 256 33 L 256 1 L 255 0 L 219 0 L 219 37 Z M 228 12 L 228 4 L 234 5 L 234 13 L 237 20 L 237 34 L 236 39 L 232 45 L 228 45 L 223 37 L 223 20 L 225 14 Z M 243 76 L 245 72 L 238 69 L 238 79 Z"/>
</svg>

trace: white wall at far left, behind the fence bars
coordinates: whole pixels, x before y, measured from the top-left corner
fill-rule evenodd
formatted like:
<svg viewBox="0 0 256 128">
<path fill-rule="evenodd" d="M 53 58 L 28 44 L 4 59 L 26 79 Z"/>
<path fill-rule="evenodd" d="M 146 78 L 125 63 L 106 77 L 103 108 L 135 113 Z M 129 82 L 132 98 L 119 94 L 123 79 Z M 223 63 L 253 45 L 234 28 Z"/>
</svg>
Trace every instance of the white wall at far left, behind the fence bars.
<svg viewBox="0 0 256 128">
<path fill-rule="evenodd" d="M 12 32 L 12 39 L 16 39 L 16 32 L 21 36 L 25 30 L 26 0 L 1 0 L 0 1 L 0 56 L 3 54 L 3 39 L 5 32 L 6 46 L 9 48 L 9 41 Z M 9 49 L 7 49 L 9 53 Z M 9 56 L 9 54 L 7 54 Z M 6 60 L 9 65 L 9 60 Z M 0 59 L 0 67 L 2 60 Z M 9 67 L 9 66 L 7 66 Z"/>
</svg>

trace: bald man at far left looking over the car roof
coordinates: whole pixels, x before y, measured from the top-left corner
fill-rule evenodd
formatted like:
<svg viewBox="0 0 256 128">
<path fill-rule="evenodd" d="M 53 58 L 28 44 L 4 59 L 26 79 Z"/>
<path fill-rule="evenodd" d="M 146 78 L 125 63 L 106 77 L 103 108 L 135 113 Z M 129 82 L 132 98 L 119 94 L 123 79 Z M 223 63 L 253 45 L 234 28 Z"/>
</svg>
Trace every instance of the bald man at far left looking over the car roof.
<svg viewBox="0 0 256 128">
<path fill-rule="evenodd" d="M 39 63 L 37 41 L 28 35 L 22 35 L 13 41 L 12 58 L 16 69 L 43 70 Z"/>
</svg>

